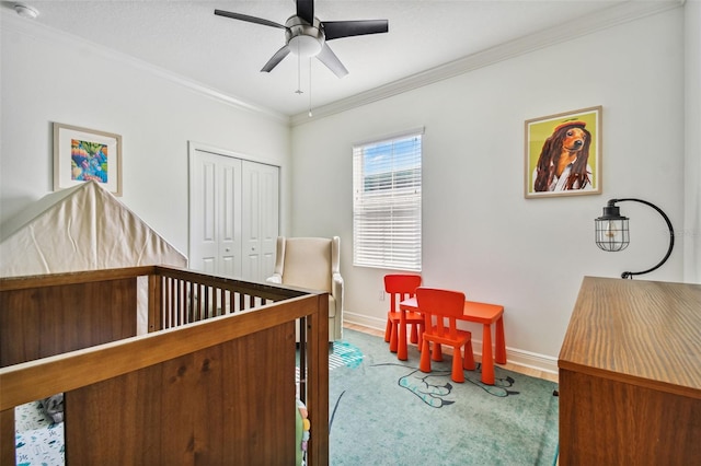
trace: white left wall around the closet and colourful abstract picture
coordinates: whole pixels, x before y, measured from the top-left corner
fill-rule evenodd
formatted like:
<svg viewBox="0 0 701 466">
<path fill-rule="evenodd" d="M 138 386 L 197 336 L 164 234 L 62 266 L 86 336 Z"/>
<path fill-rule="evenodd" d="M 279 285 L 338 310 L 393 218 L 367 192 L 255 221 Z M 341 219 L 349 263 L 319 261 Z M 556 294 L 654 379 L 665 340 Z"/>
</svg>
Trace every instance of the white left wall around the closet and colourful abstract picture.
<svg viewBox="0 0 701 466">
<path fill-rule="evenodd" d="M 0 221 L 53 190 L 53 121 L 122 135 L 120 200 L 185 254 L 187 141 L 280 165 L 287 184 L 287 118 L 206 96 L 5 13 L 0 83 Z"/>
</svg>

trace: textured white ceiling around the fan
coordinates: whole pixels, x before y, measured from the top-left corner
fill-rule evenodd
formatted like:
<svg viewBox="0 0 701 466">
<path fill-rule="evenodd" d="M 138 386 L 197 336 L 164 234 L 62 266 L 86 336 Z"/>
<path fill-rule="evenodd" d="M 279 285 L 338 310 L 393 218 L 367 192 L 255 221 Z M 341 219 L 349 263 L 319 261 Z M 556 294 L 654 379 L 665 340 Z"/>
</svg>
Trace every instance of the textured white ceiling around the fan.
<svg viewBox="0 0 701 466">
<path fill-rule="evenodd" d="M 639 2 L 640 0 L 629 1 Z M 656 0 L 669 3 L 675 0 Z M 2 2 L 11 9 L 15 2 Z M 284 31 L 216 16 L 215 9 L 284 24 L 292 0 L 34 1 L 35 22 L 143 60 L 214 91 L 283 115 L 310 104 L 310 62 L 289 55 L 260 72 L 285 43 Z M 423 73 L 444 63 L 551 28 L 607 18 L 622 0 L 317 0 L 321 21 L 389 20 L 389 33 L 329 45 L 348 69 L 336 78 L 311 62 L 311 103 L 323 106 Z M 651 3 L 651 2 L 647 2 Z M 610 14 L 609 14 L 610 15 Z M 32 21 L 32 20 L 27 20 Z M 302 94 L 295 93 L 301 89 Z"/>
</svg>

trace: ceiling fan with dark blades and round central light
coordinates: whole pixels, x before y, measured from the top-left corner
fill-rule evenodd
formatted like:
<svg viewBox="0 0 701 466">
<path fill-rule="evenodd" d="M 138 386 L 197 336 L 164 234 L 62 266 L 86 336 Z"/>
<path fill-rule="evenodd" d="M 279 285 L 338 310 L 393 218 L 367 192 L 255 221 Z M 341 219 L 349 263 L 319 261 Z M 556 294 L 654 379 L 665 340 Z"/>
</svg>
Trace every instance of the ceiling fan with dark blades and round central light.
<svg viewBox="0 0 701 466">
<path fill-rule="evenodd" d="M 273 55 L 261 70 L 266 72 L 272 71 L 291 51 L 294 55 L 304 58 L 317 57 L 334 74 L 343 78 L 348 74 L 348 70 L 326 43 L 343 37 L 380 34 L 389 31 L 387 20 L 320 21 L 314 16 L 313 0 L 297 0 L 297 14 L 289 16 L 284 25 L 262 18 L 223 10 L 215 10 L 215 14 L 285 30 L 285 45 Z"/>
</svg>

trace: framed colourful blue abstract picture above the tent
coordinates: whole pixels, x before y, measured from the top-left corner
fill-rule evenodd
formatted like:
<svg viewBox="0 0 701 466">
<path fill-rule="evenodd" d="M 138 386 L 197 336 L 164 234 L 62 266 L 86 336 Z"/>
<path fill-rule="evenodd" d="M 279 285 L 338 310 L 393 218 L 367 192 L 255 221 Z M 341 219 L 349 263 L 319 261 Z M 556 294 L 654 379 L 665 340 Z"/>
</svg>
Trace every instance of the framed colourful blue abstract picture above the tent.
<svg viewBox="0 0 701 466">
<path fill-rule="evenodd" d="M 54 190 L 88 180 L 122 196 L 122 136 L 54 123 Z"/>
</svg>

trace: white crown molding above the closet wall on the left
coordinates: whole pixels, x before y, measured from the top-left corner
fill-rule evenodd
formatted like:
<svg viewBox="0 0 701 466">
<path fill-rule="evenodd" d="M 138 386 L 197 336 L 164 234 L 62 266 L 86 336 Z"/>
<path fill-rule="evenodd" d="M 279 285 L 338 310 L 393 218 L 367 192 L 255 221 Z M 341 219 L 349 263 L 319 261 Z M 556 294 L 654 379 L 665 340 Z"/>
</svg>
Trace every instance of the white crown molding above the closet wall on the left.
<svg viewBox="0 0 701 466">
<path fill-rule="evenodd" d="M 134 58 L 120 51 L 116 51 L 103 45 L 87 40 L 82 37 L 78 37 L 76 35 L 55 30 L 44 24 L 20 18 L 16 13 L 14 13 L 13 10 L 3 8 L 0 13 L 0 20 L 2 21 L 3 30 L 7 28 L 7 31 L 22 34 L 34 39 L 46 40 L 53 44 L 59 43 L 68 47 L 89 48 L 90 51 L 94 53 L 95 55 L 100 55 L 107 59 L 139 69 L 141 71 L 146 71 L 150 74 L 186 88 L 189 91 L 194 91 L 195 93 L 210 97 L 217 102 L 230 105 L 241 110 L 254 113 L 258 116 L 263 116 L 276 121 L 289 124 L 289 116 L 287 115 L 266 107 L 251 104 L 237 96 L 228 95 L 221 91 L 208 88 L 181 74 L 157 67 L 138 58 Z"/>
</svg>

